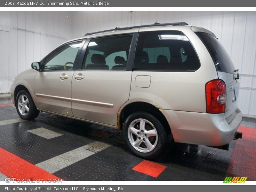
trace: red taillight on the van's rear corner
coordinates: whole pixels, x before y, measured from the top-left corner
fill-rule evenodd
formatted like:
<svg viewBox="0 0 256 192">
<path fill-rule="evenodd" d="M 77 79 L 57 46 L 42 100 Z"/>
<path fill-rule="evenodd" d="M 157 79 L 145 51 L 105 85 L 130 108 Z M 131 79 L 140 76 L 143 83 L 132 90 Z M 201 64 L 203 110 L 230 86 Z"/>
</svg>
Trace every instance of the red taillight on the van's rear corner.
<svg viewBox="0 0 256 192">
<path fill-rule="evenodd" d="M 226 107 L 226 84 L 220 79 L 209 81 L 205 85 L 206 112 L 224 113 Z"/>
</svg>

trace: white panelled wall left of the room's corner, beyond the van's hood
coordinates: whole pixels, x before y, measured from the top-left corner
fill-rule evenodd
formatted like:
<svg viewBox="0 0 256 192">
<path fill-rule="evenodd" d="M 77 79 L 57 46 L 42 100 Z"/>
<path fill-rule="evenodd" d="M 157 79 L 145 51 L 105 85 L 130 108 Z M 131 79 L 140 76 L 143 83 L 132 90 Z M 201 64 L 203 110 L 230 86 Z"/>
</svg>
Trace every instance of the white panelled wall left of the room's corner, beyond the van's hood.
<svg viewBox="0 0 256 192">
<path fill-rule="evenodd" d="M 70 12 L 0 12 L 0 93 L 17 74 L 72 37 Z"/>
</svg>

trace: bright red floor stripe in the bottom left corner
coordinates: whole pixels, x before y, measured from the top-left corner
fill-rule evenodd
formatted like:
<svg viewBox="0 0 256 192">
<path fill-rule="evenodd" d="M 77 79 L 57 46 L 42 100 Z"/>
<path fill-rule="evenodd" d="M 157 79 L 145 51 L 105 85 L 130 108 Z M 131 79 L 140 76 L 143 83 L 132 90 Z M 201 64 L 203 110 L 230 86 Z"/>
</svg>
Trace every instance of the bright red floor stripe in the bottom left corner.
<svg viewBox="0 0 256 192">
<path fill-rule="evenodd" d="M 0 172 L 15 180 L 60 180 L 34 164 L 0 148 Z"/>
</svg>

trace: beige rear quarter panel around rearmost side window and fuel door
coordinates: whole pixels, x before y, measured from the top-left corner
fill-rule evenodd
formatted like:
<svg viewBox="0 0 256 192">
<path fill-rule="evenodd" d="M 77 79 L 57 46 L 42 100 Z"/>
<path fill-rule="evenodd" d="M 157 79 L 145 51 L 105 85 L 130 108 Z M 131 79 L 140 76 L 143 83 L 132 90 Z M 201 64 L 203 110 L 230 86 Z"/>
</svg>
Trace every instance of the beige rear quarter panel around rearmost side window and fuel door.
<svg viewBox="0 0 256 192">
<path fill-rule="evenodd" d="M 169 29 L 180 30 L 188 37 L 196 50 L 201 67 L 195 72 L 133 71 L 128 103 L 144 101 L 153 104 L 159 109 L 205 113 L 205 84 L 212 79 L 218 78 L 212 58 L 204 44 L 190 27 L 159 27 L 151 28 L 150 30 Z M 144 30 L 148 31 L 146 28 L 140 29 L 140 31 Z M 135 78 L 138 75 L 151 77 L 148 88 L 135 86 Z"/>
</svg>

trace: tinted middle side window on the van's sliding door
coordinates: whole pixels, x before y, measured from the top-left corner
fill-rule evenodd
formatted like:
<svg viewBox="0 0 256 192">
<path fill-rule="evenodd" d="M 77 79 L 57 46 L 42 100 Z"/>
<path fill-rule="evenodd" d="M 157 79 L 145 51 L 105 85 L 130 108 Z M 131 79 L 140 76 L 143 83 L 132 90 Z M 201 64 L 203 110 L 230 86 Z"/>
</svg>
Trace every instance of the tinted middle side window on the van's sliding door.
<svg viewBox="0 0 256 192">
<path fill-rule="evenodd" d="M 84 55 L 82 69 L 126 69 L 132 36 L 129 34 L 91 39 Z"/>
</svg>

